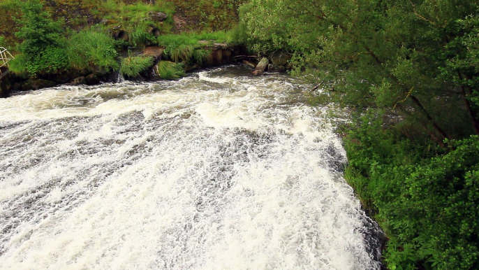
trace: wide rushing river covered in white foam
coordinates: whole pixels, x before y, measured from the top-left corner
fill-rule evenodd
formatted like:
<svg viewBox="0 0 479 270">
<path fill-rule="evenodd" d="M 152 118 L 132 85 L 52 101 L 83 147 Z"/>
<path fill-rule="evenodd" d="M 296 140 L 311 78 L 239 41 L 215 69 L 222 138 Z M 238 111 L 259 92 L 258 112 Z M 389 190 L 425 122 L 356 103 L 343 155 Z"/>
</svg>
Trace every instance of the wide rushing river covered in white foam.
<svg viewBox="0 0 479 270">
<path fill-rule="evenodd" d="M 0 269 L 379 269 L 325 108 L 244 66 L 0 100 Z"/>
</svg>

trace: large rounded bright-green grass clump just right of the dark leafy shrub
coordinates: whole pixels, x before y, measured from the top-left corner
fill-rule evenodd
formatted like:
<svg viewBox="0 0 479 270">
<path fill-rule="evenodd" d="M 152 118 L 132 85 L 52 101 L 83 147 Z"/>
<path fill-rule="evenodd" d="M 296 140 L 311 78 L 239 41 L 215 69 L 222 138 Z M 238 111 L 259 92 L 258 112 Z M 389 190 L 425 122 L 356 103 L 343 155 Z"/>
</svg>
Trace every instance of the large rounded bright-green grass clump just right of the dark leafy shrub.
<svg viewBox="0 0 479 270">
<path fill-rule="evenodd" d="M 115 41 L 103 31 L 84 29 L 73 34 L 68 40 L 66 54 L 75 69 L 85 69 L 90 65 L 119 69 Z"/>
</svg>

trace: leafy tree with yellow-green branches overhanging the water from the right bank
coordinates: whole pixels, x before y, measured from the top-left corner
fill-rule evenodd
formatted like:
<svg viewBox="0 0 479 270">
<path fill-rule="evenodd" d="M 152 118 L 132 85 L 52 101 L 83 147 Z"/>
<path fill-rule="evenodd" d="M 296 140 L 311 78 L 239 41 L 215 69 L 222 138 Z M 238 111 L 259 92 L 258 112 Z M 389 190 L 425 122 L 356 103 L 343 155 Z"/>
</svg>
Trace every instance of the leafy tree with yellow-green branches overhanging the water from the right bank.
<svg viewBox="0 0 479 270">
<path fill-rule="evenodd" d="M 295 52 L 295 73 L 329 90 L 327 100 L 399 112 L 443 144 L 479 134 L 478 5 L 252 0 L 242 7 L 242 20 L 259 53 Z M 439 104 L 450 107 L 448 115 Z"/>
</svg>

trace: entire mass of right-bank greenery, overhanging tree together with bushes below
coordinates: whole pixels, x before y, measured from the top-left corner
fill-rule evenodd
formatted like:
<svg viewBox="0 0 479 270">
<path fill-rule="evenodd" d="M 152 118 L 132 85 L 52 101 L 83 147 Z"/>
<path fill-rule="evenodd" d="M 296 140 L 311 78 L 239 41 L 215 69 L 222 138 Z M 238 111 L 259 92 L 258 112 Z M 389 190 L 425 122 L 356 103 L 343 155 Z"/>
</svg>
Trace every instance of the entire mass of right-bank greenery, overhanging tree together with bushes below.
<svg viewBox="0 0 479 270">
<path fill-rule="evenodd" d="M 479 2 L 251 0 L 241 14 L 255 52 L 293 53 L 314 101 L 358 115 L 346 176 L 388 233 L 388 267 L 478 269 Z"/>
</svg>

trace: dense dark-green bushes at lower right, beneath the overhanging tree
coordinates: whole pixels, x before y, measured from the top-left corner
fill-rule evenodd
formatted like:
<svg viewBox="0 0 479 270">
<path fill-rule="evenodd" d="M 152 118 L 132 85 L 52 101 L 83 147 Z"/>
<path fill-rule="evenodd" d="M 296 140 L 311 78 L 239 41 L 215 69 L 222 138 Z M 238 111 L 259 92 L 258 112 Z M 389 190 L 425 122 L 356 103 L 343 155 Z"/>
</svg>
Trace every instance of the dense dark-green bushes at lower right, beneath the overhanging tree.
<svg viewBox="0 0 479 270">
<path fill-rule="evenodd" d="M 479 137 L 448 145 L 397 137 L 371 114 L 348 135 L 346 178 L 388 234 L 389 269 L 478 267 Z"/>
</svg>

